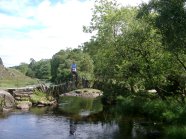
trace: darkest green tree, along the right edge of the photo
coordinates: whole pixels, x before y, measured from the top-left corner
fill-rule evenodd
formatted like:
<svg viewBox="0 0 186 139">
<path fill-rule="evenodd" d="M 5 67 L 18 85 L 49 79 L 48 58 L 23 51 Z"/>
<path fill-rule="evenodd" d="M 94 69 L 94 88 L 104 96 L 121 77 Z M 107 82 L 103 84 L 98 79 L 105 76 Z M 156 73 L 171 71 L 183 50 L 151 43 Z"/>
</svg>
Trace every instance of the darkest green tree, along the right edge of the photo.
<svg viewBox="0 0 186 139">
<path fill-rule="evenodd" d="M 164 65 L 171 62 L 171 66 L 167 68 L 166 85 L 159 88 L 159 91 L 180 96 L 182 102 L 186 87 L 185 2 L 185 0 L 151 0 L 140 7 L 138 14 L 141 18 L 154 14 L 151 24 L 159 30 L 165 53 L 169 53 L 169 61 L 163 62 Z"/>
</svg>

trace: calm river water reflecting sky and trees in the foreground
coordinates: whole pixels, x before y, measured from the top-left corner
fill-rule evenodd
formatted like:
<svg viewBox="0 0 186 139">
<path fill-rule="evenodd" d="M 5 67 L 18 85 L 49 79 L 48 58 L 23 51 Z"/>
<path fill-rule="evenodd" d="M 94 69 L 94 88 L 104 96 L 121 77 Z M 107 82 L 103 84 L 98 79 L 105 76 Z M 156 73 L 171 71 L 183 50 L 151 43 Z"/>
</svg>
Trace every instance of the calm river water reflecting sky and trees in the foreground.
<svg viewBox="0 0 186 139">
<path fill-rule="evenodd" d="M 58 108 L 32 108 L 0 117 L 0 139 L 161 138 L 161 126 L 118 115 L 100 99 L 65 97 Z"/>
</svg>

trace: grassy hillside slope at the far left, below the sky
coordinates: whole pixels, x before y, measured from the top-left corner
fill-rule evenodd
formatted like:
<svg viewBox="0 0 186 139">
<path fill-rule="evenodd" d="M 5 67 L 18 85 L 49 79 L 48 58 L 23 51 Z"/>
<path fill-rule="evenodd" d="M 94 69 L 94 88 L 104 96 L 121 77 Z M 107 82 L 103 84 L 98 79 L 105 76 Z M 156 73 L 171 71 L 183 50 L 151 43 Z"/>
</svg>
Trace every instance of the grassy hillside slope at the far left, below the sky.
<svg viewBox="0 0 186 139">
<path fill-rule="evenodd" d="M 27 77 L 16 69 L 0 65 L 0 88 L 23 87 L 36 83 L 36 79 Z"/>
</svg>

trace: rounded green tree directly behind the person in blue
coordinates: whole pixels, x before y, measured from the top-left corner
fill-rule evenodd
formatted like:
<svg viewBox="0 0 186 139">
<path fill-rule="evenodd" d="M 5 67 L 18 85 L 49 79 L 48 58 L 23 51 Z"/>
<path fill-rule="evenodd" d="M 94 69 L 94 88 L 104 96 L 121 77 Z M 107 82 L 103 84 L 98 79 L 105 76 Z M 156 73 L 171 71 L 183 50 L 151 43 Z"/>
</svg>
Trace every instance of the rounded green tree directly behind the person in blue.
<svg viewBox="0 0 186 139">
<path fill-rule="evenodd" d="M 71 78 L 71 64 L 75 62 L 80 77 L 93 78 L 93 61 L 90 56 L 80 49 L 61 50 L 51 60 L 52 81 L 61 82 Z"/>
</svg>

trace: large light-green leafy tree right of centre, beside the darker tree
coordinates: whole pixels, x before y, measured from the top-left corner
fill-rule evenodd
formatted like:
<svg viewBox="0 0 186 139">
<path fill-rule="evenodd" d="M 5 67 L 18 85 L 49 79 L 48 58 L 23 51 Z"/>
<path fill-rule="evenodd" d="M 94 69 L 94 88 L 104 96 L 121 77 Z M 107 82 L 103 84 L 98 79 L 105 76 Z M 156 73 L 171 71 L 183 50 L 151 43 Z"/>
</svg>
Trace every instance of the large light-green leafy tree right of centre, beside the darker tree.
<svg viewBox="0 0 186 139">
<path fill-rule="evenodd" d="M 158 93 L 167 93 L 163 86 L 169 85 L 168 76 L 178 70 L 178 64 L 171 51 L 166 51 L 164 35 L 154 26 L 157 15 L 137 18 L 138 12 L 137 8 L 97 1 L 86 28 L 97 34 L 84 44 L 84 51 L 94 60 L 96 78 L 124 84 L 132 92 L 156 88 Z"/>
</svg>

